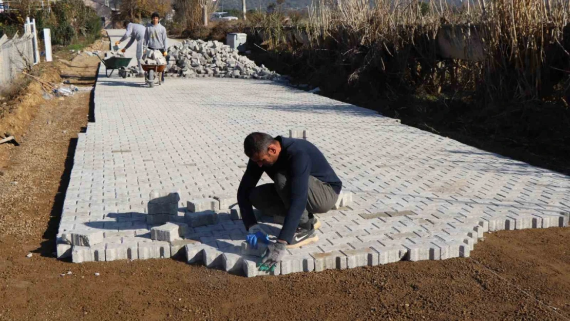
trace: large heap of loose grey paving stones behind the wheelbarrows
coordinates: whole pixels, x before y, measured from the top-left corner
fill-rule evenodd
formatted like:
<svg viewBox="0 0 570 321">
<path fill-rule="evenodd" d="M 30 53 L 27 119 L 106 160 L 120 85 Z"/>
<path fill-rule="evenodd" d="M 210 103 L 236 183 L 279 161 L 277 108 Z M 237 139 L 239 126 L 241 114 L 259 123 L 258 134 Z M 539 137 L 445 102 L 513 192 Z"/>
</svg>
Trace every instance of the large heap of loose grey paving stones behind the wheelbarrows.
<svg viewBox="0 0 570 321">
<path fill-rule="evenodd" d="M 184 40 L 168 48 L 168 72 L 181 77 L 219 77 L 280 80 L 281 76 L 265 66 L 240 56 L 221 42 Z"/>
</svg>

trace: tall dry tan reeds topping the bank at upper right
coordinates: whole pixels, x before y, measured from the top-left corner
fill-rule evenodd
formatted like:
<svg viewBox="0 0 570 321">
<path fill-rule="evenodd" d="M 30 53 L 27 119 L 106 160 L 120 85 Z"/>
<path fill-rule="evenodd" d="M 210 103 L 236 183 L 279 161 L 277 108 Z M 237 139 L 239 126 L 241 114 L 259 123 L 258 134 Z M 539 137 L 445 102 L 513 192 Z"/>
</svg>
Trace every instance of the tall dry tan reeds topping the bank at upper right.
<svg viewBox="0 0 570 321">
<path fill-rule="evenodd" d="M 389 92 L 402 87 L 431 94 L 471 91 L 477 99 L 566 103 L 569 3 L 318 0 L 309 8 L 307 49 L 338 52 L 337 59 L 353 66 L 349 83 L 374 72 L 389 80 L 383 86 Z M 442 25 L 460 25 L 458 40 L 467 49 L 482 46 L 484 59 L 438 56 Z"/>
</svg>

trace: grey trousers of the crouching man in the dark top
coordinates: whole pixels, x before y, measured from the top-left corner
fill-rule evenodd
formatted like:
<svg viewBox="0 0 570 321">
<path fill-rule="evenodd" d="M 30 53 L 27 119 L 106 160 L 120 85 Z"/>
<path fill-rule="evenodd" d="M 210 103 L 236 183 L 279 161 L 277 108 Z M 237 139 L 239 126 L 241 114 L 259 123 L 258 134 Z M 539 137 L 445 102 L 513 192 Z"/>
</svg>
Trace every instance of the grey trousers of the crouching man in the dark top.
<svg viewBox="0 0 570 321">
<path fill-rule="evenodd" d="M 272 179 L 273 184 L 259 185 L 251 191 L 251 205 L 263 215 L 285 217 L 291 205 L 291 185 L 285 173 L 277 173 Z M 326 213 L 331 210 L 338 198 L 339 194 L 331 185 L 309 176 L 307 208 L 303 211 L 299 225 L 306 225 L 314 213 Z"/>
</svg>

